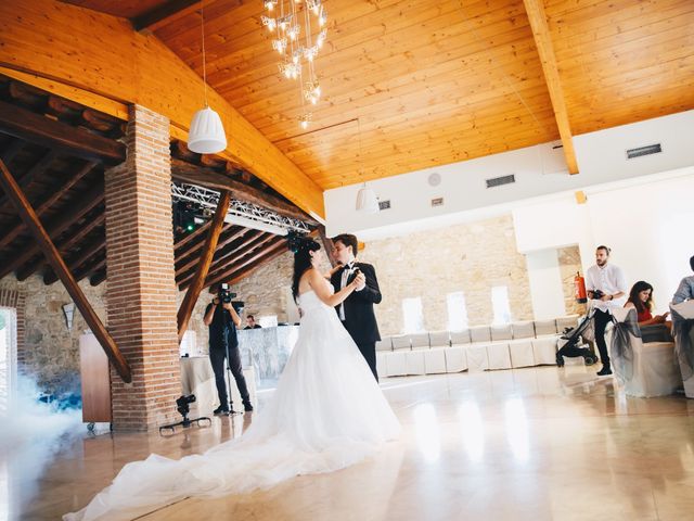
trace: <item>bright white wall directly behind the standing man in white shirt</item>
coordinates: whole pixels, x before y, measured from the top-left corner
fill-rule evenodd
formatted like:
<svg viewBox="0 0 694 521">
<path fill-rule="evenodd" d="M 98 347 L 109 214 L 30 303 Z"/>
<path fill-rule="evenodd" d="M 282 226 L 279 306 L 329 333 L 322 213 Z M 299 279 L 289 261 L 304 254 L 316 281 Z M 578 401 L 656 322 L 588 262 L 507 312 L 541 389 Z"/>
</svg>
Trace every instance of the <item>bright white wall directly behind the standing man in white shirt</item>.
<svg viewBox="0 0 694 521">
<path fill-rule="evenodd" d="M 637 280 L 650 282 L 658 312 L 667 310 L 678 282 L 691 272 L 689 258 L 694 255 L 694 167 L 679 174 L 643 185 L 595 188 L 583 205 L 558 195 L 516 208 L 518 250 L 578 243 L 586 269 L 594 262 L 595 246 L 605 244 L 629 287 Z"/>
</svg>

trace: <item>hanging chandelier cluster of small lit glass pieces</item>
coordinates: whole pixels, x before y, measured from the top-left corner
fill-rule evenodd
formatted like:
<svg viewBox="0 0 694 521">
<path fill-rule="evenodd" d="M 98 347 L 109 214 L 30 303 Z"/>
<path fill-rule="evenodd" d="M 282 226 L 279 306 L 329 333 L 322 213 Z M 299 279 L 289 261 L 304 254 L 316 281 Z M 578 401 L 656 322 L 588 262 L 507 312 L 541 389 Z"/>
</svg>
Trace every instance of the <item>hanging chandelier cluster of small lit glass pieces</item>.
<svg viewBox="0 0 694 521">
<path fill-rule="evenodd" d="M 327 38 L 327 15 L 321 0 L 265 0 L 268 15 L 260 22 L 272 35 L 272 49 L 281 56 L 280 73 L 299 84 L 301 115 L 298 123 L 307 128 L 311 112 L 321 98 L 314 60 Z"/>
</svg>

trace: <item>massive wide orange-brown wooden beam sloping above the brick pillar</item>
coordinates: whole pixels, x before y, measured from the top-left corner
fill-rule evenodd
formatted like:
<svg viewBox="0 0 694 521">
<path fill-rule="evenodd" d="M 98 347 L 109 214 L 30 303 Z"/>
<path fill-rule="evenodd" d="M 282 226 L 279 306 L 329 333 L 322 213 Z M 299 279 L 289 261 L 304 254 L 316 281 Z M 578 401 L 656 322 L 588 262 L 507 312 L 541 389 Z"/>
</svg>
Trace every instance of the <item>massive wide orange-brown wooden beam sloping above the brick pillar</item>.
<svg viewBox="0 0 694 521">
<path fill-rule="evenodd" d="M 154 35 L 136 31 L 127 20 L 57 0 L 4 0 L 0 21 L 0 66 L 146 106 L 169 118 L 172 136 L 185 139 L 203 105 L 203 80 Z M 216 91 L 208 88 L 207 98 L 230 136 L 220 155 L 323 217 L 321 188 Z"/>
</svg>

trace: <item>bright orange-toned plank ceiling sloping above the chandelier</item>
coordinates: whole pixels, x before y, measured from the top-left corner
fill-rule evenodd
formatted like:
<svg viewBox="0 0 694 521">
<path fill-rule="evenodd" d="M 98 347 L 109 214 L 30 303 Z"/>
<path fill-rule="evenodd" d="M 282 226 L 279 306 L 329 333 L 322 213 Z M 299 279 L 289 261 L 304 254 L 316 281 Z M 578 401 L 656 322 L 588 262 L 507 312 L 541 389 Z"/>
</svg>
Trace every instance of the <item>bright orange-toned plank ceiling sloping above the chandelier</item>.
<svg viewBox="0 0 694 521">
<path fill-rule="evenodd" d="M 69 3 L 140 21 L 176 13 L 154 34 L 202 75 L 200 2 Z M 553 141 L 527 3 L 325 0 L 324 98 L 307 131 L 260 25 L 261 0 L 205 2 L 207 77 L 322 189 Z M 694 109 L 694 2 L 542 5 L 573 135 Z"/>
</svg>

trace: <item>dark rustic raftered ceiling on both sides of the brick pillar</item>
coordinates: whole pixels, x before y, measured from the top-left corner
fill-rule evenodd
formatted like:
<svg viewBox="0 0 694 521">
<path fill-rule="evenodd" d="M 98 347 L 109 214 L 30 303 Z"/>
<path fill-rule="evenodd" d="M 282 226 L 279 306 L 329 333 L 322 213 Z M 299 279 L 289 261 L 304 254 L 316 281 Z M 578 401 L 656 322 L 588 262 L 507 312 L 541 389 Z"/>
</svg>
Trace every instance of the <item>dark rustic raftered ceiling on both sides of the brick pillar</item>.
<svg viewBox="0 0 694 521">
<path fill-rule="evenodd" d="M 0 75 L 0 158 L 75 279 L 89 278 L 92 285 L 106 279 L 104 163 L 125 158 L 119 142 L 124 132 L 120 119 Z M 171 142 L 171 155 L 177 181 L 209 188 L 223 183 L 236 199 L 317 224 L 262 181 L 230 168 L 221 157 L 194 154 L 180 141 Z M 193 280 L 209 226 L 207 221 L 191 233 L 175 234 L 176 282 L 181 290 Z M 57 280 L 1 190 L 0 230 L 0 279 L 14 272 L 25 280 L 38 272 L 47 284 Z M 283 237 L 226 224 L 205 287 L 237 282 L 284 252 Z"/>
</svg>

